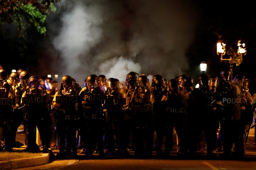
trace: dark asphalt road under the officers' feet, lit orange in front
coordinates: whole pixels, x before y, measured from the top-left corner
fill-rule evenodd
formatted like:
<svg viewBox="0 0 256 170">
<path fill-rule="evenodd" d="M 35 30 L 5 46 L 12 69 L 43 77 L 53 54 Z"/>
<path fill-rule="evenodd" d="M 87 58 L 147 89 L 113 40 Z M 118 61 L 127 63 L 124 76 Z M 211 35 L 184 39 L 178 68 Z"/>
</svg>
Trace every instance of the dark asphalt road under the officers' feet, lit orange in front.
<svg viewBox="0 0 256 170">
<path fill-rule="evenodd" d="M 19 128 L 20 130 L 22 127 Z M 204 151 L 197 151 L 197 156 L 192 159 L 180 159 L 177 157 L 176 151 L 172 151 L 170 158 L 159 159 L 153 152 L 151 159 L 135 159 L 133 157 L 133 151 L 130 151 L 130 157 L 105 157 L 99 158 L 97 154 L 94 154 L 93 159 L 86 159 L 83 153 L 78 150 L 78 157 L 76 159 L 54 160 L 46 165 L 20 168 L 17 170 L 126 170 L 126 169 L 138 169 L 138 170 L 156 170 L 156 169 L 204 169 L 204 170 L 252 170 L 256 167 L 256 145 L 254 139 L 254 129 L 250 129 L 249 137 L 246 143 L 245 158 L 242 160 L 224 160 L 222 159 L 222 152 L 216 152 L 216 159 L 208 160 L 206 155 L 206 149 Z M 174 139 L 176 133 L 174 134 Z M 24 142 L 24 134 L 17 132 L 17 140 Z M 53 141 L 54 142 L 54 141 Z M 176 140 L 175 140 L 176 142 Z M 175 143 L 174 142 L 174 143 Z M 163 146 L 164 147 L 164 146 Z M 176 143 L 174 144 L 174 148 Z M 55 147 L 52 147 L 54 154 L 58 153 Z"/>
</svg>

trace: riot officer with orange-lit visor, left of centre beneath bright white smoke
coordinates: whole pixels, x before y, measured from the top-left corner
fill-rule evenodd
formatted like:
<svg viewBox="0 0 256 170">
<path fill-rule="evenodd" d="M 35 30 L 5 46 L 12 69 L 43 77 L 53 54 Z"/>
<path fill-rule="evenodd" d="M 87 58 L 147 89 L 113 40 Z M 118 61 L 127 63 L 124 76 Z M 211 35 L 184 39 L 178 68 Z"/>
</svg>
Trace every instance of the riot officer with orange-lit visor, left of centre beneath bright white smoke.
<svg viewBox="0 0 256 170">
<path fill-rule="evenodd" d="M 123 105 L 125 98 L 122 93 L 122 86 L 118 79 L 109 78 L 107 80 L 107 100 L 105 101 L 105 137 L 107 138 L 107 153 L 120 156 L 127 156 L 127 146 L 124 140 L 123 129 L 125 128 Z M 116 140 L 114 139 L 116 137 Z M 117 151 L 115 151 L 117 145 Z"/>
</svg>

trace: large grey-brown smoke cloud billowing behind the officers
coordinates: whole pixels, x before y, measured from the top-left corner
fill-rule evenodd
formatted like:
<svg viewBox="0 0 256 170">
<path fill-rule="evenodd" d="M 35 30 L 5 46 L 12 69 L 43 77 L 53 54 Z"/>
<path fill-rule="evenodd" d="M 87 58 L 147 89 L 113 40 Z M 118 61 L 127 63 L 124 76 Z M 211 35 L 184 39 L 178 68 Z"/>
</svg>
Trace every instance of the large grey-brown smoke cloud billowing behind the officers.
<svg viewBox="0 0 256 170">
<path fill-rule="evenodd" d="M 133 71 L 151 81 L 167 80 L 188 69 L 186 50 L 198 23 L 191 1 L 62 0 L 48 16 L 53 70 L 77 83 L 103 74 L 124 82 Z"/>
</svg>

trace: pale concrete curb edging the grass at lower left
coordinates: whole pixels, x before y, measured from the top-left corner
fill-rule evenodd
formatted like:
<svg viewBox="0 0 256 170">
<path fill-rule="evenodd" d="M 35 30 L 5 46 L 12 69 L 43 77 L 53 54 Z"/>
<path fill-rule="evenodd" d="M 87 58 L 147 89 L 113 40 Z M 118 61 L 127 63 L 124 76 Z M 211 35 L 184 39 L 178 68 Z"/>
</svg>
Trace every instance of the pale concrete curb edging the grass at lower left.
<svg viewBox="0 0 256 170">
<path fill-rule="evenodd" d="M 38 166 L 49 163 L 50 153 L 43 153 L 41 157 L 35 158 L 20 158 L 20 159 L 11 159 L 0 162 L 1 170 L 10 170 L 16 168 L 26 168 L 30 166 Z"/>
</svg>

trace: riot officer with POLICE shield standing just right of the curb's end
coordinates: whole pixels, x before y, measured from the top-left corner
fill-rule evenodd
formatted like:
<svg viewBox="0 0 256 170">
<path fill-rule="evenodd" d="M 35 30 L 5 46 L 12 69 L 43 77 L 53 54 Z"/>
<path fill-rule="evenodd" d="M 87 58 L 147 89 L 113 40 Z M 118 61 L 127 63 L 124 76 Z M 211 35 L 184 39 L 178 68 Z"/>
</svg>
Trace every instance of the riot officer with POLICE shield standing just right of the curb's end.
<svg viewBox="0 0 256 170">
<path fill-rule="evenodd" d="M 53 97 L 54 115 L 57 119 L 57 131 L 60 139 L 60 150 L 57 159 L 75 158 L 77 156 L 76 131 L 79 120 L 79 95 L 72 88 L 72 78 L 62 77 L 60 90 Z M 67 147 L 65 144 L 67 142 Z"/>
</svg>

